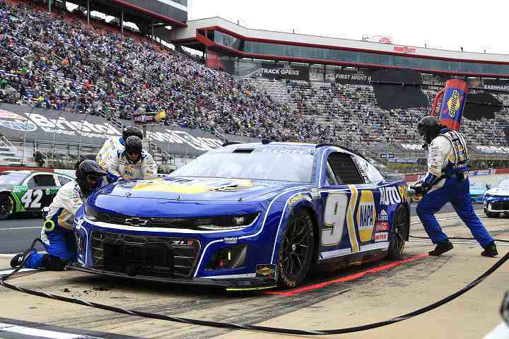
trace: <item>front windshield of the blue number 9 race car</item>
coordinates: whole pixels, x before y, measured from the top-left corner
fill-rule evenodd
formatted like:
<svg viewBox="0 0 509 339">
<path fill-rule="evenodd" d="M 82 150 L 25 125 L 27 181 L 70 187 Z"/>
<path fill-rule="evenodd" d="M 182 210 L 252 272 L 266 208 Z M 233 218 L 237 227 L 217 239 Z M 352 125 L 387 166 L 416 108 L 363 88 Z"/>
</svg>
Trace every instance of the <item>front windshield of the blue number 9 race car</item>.
<svg viewBox="0 0 509 339">
<path fill-rule="evenodd" d="M 284 150 L 294 153 L 279 153 Z M 314 155 L 301 148 L 262 148 L 250 153 L 205 153 L 171 177 L 211 177 L 312 182 Z"/>
</svg>

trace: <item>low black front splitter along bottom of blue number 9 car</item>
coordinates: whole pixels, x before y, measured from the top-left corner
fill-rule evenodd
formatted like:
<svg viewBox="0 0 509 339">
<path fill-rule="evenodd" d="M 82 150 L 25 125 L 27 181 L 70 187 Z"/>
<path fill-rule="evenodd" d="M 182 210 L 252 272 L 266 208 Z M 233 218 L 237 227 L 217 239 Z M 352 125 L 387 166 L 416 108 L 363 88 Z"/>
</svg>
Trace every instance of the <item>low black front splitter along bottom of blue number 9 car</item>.
<svg viewBox="0 0 509 339">
<path fill-rule="evenodd" d="M 197 286 L 213 286 L 223 287 L 229 291 L 247 291 L 247 290 L 267 290 L 276 287 L 276 280 L 273 278 L 233 278 L 233 279 L 217 279 L 217 278 L 160 278 L 148 275 L 127 275 L 125 273 L 111 272 L 108 270 L 96 270 L 88 268 L 80 263 L 73 263 L 68 268 L 80 270 L 87 273 L 95 273 L 115 278 L 126 278 L 132 280 L 142 280 L 156 283 L 180 284 L 180 285 L 197 285 Z"/>
</svg>

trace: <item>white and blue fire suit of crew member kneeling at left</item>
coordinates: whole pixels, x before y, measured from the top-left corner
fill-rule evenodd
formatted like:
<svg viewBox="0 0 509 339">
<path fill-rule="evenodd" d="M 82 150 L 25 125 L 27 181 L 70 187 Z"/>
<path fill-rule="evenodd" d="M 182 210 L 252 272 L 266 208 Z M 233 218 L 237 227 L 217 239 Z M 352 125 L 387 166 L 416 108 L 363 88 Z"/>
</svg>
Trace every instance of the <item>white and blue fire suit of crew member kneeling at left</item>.
<svg viewBox="0 0 509 339">
<path fill-rule="evenodd" d="M 98 183 L 99 186 L 102 184 L 103 182 Z M 57 256 L 64 261 L 74 261 L 76 258 L 74 215 L 84 200 L 80 186 L 75 181 L 68 182 L 59 189 L 49 205 L 49 211 L 44 215 L 45 221 L 41 230 L 41 240 L 47 254 Z M 47 264 L 43 263 L 43 260 L 47 258 L 33 249 L 25 262 L 25 267 L 47 267 Z"/>
</svg>

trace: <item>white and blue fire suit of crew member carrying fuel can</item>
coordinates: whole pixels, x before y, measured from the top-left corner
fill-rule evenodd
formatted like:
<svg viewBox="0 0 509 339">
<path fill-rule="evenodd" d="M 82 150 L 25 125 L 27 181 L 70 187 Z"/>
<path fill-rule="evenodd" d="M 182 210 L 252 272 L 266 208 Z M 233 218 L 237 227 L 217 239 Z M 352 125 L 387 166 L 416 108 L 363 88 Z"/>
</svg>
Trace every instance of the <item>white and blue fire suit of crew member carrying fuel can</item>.
<svg viewBox="0 0 509 339">
<path fill-rule="evenodd" d="M 450 202 L 457 215 L 469 227 L 474 238 L 485 247 L 493 242 L 481 220 L 472 207 L 469 191 L 469 155 L 463 136 L 448 129 L 442 129 L 428 145 L 428 172 L 417 185 L 428 193 L 417 205 L 417 215 L 433 244 L 447 240 L 435 218 L 435 213 Z"/>
</svg>

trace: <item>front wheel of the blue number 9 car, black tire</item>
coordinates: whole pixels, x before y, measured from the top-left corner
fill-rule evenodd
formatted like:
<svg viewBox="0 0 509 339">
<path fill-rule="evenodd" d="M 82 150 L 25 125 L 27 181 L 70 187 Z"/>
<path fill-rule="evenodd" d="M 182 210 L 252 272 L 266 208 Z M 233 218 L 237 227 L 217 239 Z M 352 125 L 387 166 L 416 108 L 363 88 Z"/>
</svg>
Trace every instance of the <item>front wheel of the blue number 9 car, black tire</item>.
<svg viewBox="0 0 509 339">
<path fill-rule="evenodd" d="M 315 231 L 310 215 L 296 210 L 286 223 L 279 247 L 278 285 L 292 288 L 300 285 L 310 270 L 315 253 Z"/>
</svg>

